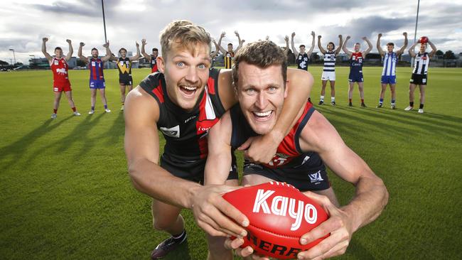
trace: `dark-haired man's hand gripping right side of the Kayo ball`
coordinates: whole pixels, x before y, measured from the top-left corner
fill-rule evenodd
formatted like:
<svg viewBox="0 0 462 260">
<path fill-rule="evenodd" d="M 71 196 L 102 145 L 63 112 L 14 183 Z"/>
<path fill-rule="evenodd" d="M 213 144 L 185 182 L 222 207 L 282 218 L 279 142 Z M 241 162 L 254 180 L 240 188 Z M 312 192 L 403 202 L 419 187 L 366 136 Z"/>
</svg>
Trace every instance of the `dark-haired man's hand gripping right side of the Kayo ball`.
<svg viewBox="0 0 462 260">
<path fill-rule="evenodd" d="M 331 234 L 323 241 L 312 247 L 308 251 L 303 251 L 298 254 L 299 259 L 326 259 L 333 256 L 345 254 L 345 251 L 350 244 L 353 234 L 353 223 L 351 217 L 343 210 L 335 207 L 328 197 L 311 193 L 309 191 L 303 193 L 307 197 L 316 200 L 330 216 L 328 220 L 321 223 L 318 227 L 311 229 L 310 232 L 304 234 L 300 242 L 301 244 L 310 243 L 318 238 Z M 304 241 L 303 241 L 304 240 Z"/>
</svg>

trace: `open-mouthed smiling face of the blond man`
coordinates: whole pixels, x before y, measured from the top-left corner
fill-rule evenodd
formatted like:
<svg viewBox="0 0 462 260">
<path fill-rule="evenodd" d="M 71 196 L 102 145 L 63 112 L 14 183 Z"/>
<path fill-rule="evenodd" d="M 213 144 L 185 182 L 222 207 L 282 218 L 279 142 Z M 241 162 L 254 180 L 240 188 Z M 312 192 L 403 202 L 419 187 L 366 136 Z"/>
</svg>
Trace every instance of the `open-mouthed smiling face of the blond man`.
<svg viewBox="0 0 462 260">
<path fill-rule="evenodd" d="M 178 107 L 190 111 L 198 102 L 208 81 L 209 45 L 197 43 L 193 48 L 172 46 L 166 56 L 158 58 L 159 70 L 166 80 L 168 97 Z"/>
</svg>

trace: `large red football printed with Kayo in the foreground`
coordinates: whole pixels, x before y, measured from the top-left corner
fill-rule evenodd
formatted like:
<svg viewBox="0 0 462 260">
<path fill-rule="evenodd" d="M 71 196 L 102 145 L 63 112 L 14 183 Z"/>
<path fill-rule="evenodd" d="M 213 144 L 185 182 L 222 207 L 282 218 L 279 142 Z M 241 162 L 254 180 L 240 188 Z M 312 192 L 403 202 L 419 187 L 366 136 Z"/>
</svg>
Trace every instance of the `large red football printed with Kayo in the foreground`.
<svg viewBox="0 0 462 260">
<path fill-rule="evenodd" d="M 300 251 L 328 237 L 300 244 L 301 235 L 327 220 L 328 215 L 323 207 L 292 185 L 272 181 L 240 188 L 223 197 L 249 218 L 242 247 L 252 247 L 255 254 L 296 259 Z"/>
</svg>

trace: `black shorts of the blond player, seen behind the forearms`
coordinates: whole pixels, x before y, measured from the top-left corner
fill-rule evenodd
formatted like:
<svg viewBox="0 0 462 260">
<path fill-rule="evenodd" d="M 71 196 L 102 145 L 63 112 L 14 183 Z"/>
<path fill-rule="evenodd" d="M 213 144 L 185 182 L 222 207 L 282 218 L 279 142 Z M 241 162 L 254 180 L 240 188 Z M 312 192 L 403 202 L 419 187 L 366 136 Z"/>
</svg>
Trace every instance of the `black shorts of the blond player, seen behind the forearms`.
<svg viewBox="0 0 462 260">
<path fill-rule="evenodd" d="M 163 153 L 161 156 L 161 167 L 178 178 L 203 184 L 206 161 L 206 158 L 195 161 L 180 161 L 174 158 L 174 156 L 168 156 Z M 227 180 L 237 180 L 238 178 L 236 156 L 233 154 L 230 175 L 228 175 Z"/>
</svg>

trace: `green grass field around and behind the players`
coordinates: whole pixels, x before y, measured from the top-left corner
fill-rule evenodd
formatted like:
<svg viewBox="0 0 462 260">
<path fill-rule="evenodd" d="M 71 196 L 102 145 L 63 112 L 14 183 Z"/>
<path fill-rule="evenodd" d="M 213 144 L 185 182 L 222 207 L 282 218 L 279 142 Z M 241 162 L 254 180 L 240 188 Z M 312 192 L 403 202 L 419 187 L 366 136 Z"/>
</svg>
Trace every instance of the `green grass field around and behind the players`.
<svg viewBox="0 0 462 260">
<path fill-rule="evenodd" d="M 321 69 L 311 67 L 315 104 Z M 364 70 L 368 108 L 358 106 L 357 89 L 347 107 L 346 67 L 337 69 L 338 106 L 316 105 L 390 192 L 380 218 L 354 234 L 341 259 L 462 259 L 462 70 L 430 68 L 425 114 L 403 111 L 409 68 L 398 68 L 397 110 L 389 91 L 386 108 L 375 109 L 382 69 Z M 116 72 L 105 72 L 110 114 L 100 97 L 87 114 L 89 72 L 72 70 L 82 117 L 72 117 L 63 97 L 55 120 L 49 70 L 0 74 L 0 259 L 149 259 L 166 238 L 151 228 L 150 199 L 127 174 Z M 148 73 L 134 70 L 134 82 Z M 347 203 L 354 188 L 330 178 Z M 205 259 L 205 236 L 183 215 L 188 243 L 167 259 Z"/>
</svg>

